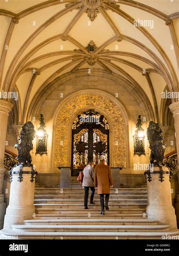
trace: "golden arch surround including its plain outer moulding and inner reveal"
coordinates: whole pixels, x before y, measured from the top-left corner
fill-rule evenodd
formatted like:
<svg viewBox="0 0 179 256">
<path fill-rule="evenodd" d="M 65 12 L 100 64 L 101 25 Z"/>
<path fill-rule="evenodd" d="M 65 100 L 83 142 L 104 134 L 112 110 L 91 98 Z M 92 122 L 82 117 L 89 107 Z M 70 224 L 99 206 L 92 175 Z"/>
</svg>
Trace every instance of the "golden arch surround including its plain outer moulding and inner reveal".
<svg viewBox="0 0 179 256">
<path fill-rule="evenodd" d="M 52 165 L 71 165 L 71 129 L 74 119 L 83 111 L 93 108 L 105 116 L 110 129 L 110 166 L 130 167 L 129 118 L 116 97 L 101 90 L 77 91 L 59 104 L 54 115 Z M 63 141 L 63 145 L 61 143 Z M 116 145 L 116 141 L 118 145 Z"/>
</svg>

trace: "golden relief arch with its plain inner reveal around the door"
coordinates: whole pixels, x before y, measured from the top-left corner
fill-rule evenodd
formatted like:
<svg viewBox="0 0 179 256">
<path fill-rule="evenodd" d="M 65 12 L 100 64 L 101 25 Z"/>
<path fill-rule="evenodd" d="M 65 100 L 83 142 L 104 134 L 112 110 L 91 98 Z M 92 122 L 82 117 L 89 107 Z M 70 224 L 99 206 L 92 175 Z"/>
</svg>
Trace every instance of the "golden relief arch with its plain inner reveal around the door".
<svg viewBox="0 0 179 256">
<path fill-rule="evenodd" d="M 71 165 L 72 127 L 74 119 L 85 110 L 93 109 L 105 116 L 109 125 L 110 166 L 126 166 L 127 134 L 124 117 L 110 99 L 98 94 L 82 94 L 61 108 L 56 122 L 55 166 Z"/>
</svg>

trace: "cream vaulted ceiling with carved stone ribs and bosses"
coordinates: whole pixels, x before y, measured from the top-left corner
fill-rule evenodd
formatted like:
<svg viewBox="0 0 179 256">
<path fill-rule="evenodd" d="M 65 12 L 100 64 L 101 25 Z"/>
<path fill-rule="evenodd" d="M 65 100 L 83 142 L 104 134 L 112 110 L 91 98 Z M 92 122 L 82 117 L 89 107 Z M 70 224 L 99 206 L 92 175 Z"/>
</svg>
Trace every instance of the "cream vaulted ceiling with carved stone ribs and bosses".
<svg viewBox="0 0 179 256">
<path fill-rule="evenodd" d="M 140 86 L 159 121 L 165 86 L 178 91 L 178 9 L 176 0 L 0 0 L 1 90 L 19 91 L 26 115 L 54 79 L 90 68 Z"/>
</svg>

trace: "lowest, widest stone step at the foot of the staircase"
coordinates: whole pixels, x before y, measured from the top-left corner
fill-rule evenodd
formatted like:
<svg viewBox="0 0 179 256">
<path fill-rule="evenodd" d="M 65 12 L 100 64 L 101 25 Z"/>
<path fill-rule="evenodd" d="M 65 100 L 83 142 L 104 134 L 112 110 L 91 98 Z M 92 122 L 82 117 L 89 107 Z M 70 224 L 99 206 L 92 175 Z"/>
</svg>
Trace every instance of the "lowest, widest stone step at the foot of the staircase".
<svg viewBox="0 0 179 256">
<path fill-rule="evenodd" d="M 3 236 L 18 236 L 18 239 L 162 239 L 166 232 L 22 232 L 2 229 Z M 177 236 L 179 232 L 167 232 Z"/>
</svg>

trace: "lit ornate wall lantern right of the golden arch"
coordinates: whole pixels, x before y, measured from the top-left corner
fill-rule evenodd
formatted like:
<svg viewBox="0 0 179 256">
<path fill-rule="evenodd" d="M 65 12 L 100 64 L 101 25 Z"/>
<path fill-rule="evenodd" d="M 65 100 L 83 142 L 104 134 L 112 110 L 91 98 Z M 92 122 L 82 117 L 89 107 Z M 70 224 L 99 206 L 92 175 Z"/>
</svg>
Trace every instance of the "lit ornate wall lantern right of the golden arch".
<svg viewBox="0 0 179 256">
<path fill-rule="evenodd" d="M 134 134 L 134 155 L 145 155 L 145 147 L 144 147 L 144 129 L 141 124 L 142 119 L 140 115 L 137 118 L 136 124 L 136 132 Z"/>
</svg>

